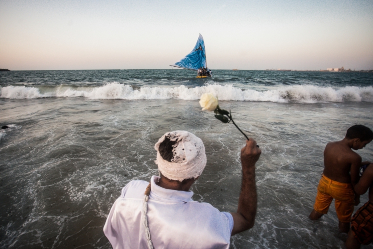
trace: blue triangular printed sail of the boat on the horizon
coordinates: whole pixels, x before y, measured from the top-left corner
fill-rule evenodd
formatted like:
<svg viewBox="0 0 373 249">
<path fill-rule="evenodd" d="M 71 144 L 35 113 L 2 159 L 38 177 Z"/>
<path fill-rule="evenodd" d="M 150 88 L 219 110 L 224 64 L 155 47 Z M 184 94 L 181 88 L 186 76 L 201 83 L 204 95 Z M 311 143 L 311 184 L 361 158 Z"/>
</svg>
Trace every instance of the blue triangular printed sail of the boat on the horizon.
<svg viewBox="0 0 373 249">
<path fill-rule="evenodd" d="M 197 43 L 193 50 L 173 66 L 191 70 L 198 70 L 200 67 L 206 67 L 206 51 L 204 49 L 204 41 L 201 34 L 199 34 Z"/>
</svg>

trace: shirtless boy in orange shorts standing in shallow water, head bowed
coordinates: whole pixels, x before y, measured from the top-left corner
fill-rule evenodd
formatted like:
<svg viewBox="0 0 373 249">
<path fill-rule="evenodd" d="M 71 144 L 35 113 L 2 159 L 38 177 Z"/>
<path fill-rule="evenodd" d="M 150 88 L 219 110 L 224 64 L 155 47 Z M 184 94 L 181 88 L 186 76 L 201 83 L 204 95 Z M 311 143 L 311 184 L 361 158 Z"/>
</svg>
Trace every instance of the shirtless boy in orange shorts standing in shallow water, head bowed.
<svg viewBox="0 0 373 249">
<path fill-rule="evenodd" d="M 328 213 L 335 199 L 335 209 L 339 220 L 339 229 L 347 233 L 354 212 L 354 204 L 360 203 L 360 196 L 354 187 L 359 181 L 359 169 L 362 158 L 354 150 L 364 148 L 373 139 L 370 128 L 357 124 L 351 126 L 345 138 L 338 142 L 329 142 L 324 150 L 324 172 L 317 187 L 316 202 L 309 215 L 318 220 Z"/>
</svg>

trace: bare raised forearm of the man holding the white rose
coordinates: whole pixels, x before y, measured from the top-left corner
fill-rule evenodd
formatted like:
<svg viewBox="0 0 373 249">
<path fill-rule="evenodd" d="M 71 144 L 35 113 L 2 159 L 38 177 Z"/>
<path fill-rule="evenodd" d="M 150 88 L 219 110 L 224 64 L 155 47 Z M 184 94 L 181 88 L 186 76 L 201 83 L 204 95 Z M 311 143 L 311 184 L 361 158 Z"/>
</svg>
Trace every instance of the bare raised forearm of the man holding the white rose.
<svg viewBox="0 0 373 249">
<path fill-rule="evenodd" d="M 255 164 L 243 165 L 241 193 L 238 200 L 237 213 L 241 214 L 250 228 L 254 226 L 257 212 L 257 190 L 255 186 Z"/>
</svg>

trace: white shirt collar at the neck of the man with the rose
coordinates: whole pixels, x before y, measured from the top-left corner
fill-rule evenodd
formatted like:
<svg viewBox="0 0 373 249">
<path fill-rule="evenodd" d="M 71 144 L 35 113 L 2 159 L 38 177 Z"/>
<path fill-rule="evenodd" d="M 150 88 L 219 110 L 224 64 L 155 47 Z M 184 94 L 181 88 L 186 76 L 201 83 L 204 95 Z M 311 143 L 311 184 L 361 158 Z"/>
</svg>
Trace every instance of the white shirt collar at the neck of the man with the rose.
<svg viewBox="0 0 373 249">
<path fill-rule="evenodd" d="M 165 189 L 156 184 L 159 176 L 152 176 L 150 180 L 151 191 L 149 197 L 152 199 L 158 199 L 165 202 L 190 202 L 193 201 L 191 197 L 193 196 L 193 191 L 179 191 L 172 189 Z"/>
</svg>

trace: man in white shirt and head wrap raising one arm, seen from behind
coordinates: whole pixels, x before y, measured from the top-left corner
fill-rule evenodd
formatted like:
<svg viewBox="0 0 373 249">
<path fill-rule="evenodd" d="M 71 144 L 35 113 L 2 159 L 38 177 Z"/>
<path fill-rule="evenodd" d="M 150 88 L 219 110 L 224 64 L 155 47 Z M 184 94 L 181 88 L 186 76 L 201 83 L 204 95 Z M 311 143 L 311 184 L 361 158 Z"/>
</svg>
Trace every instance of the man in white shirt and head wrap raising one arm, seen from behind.
<svg viewBox="0 0 373 249">
<path fill-rule="evenodd" d="M 241 149 L 242 183 L 236 213 L 193 201 L 190 187 L 206 166 L 203 142 L 183 131 L 165 133 L 155 144 L 159 176 L 133 180 L 113 204 L 103 232 L 114 249 L 229 249 L 230 237 L 254 226 L 255 163 L 261 150 L 250 138 Z"/>
</svg>

